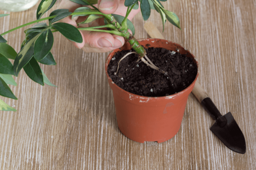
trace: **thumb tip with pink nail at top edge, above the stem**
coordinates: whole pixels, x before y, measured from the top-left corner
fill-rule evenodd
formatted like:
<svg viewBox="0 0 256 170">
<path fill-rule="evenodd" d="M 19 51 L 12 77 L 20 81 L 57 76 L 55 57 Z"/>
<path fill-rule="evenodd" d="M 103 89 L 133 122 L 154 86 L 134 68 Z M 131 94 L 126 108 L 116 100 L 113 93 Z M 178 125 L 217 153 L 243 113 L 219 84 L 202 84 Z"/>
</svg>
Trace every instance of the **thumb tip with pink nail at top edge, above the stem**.
<svg viewBox="0 0 256 170">
<path fill-rule="evenodd" d="M 119 5 L 120 0 L 98 0 L 98 8 L 104 14 L 113 14 Z"/>
</svg>

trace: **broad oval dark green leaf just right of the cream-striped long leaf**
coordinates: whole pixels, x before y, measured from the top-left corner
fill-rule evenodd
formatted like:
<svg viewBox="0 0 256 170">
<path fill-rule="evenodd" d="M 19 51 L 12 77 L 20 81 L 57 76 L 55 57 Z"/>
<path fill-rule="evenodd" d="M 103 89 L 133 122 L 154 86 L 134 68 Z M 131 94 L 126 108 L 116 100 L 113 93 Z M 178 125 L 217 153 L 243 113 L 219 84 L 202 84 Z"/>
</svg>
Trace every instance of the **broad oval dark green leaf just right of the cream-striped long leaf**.
<svg viewBox="0 0 256 170">
<path fill-rule="evenodd" d="M 53 33 L 50 29 L 40 34 L 34 44 L 34 57 L 37 61 L 42 60 L 53 47 Z"/>
</svg>

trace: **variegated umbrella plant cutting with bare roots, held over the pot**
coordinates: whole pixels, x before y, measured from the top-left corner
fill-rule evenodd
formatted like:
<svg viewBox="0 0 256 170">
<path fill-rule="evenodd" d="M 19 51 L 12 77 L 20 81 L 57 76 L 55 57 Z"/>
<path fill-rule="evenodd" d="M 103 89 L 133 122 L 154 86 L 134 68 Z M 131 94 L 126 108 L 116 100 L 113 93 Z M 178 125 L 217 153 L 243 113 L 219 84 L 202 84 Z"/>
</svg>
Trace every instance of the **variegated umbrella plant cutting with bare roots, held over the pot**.
<svg viewBox="0 0 256 170">
<path fill-rule="evenodd" d="M 160 3 L 160 1 L 167 0 L 125 0 L 125 6 L 128 7 L 125 16 L 101 13 L 98 8 L 94 6 L 94 4 L 97 4 L 98 0 L 70 1 L 81 5 L 88 5 L 90 8 L 86 6 L 80 7 L 77 8 L 73 13 L 69 12 L 67 9 L 58 9 L 53 11 L 49 17 L 41 18 L 43 14 L 48 11 L 56 2 L 56 0 L 42 0 L 37 9 L 37 20 L 0 34 L 0 96 L 17 100 L 8 84 L 14 86 L 17 85 L 12 75 L 17 77 L 21 69 L 24 69 L 30 79 L 41 84 L 42 86 L 44 83 L 50 86 L 55 86 L 47 79 L 39 65 L 39 63 L 45 65 L 56 65 L 54 57 L 50 52 L 53 46 L 54 32 L 60 32 L 67 39 L 77 43 L 82 43 L 83 41 L 79 30 L 108 32 L 111 34 L 123 36 L 131 44 L 134 51 L 139 54 L 139 60 L 146 63 L 148 66 L 164 73 L 163 70 L 157 68 L 146 57 L 145 49 L 133 37 L 135 32 L 134 26 L 132 22 L 127 19 L 127 17 L 132 9 L 139 8 L 138 1 L 140 1 L 140 10 L 144 20 L 147 20 L 150 17 L 152 9 L 156 10 L 160 14 L 163 30 L 166 20 L 171 22 L 174 26 L 180 28 L 180 20 L 177 15 L 173 12 L 165 10 L 165 8 Z M 5 17 L 7 15 L 9 14 L 0 14 L 0 17 Z M 70 15 L 72 15 L 72 17 L 87 16 L 84 21 L 77 23 L 77 26 L 79 26 L 79 24 L 92 22 L 98 18 L 104 18 L 105 24 L 103 26 L 97 27 L 76 28 L 68 23 L 56 22 Z M 46 22 L 40 22 L 45 20 L 48 20 L 48 25 Z M 10 45 L 6 44 L 7 40 L 3 38 L 3 35 L 30 24 L 34 25 L 24 31 L 25 39 L 20 47 L 20 51 L 17 53 Z M 131 30 L 132 34 L 130 34 L 128 29 Z M 14 60 L 13 64 L 9 59 Z M 16 111 L 15 108 L 9 106 L 1 99 L 0 110 Z"/>
</svg>

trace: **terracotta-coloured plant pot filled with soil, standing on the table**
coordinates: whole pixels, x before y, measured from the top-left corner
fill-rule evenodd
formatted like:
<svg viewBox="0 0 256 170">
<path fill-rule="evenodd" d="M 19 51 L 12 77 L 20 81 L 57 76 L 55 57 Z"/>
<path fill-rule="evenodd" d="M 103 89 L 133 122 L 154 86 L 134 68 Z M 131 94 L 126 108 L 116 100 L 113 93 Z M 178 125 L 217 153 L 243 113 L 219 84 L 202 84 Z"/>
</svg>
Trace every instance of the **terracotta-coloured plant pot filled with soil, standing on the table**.
<svg viewBox="0 0 256 170">
<path fill-rule="evenodd" d="M 139 39 L 141 45 L 147 47 L 161 47 L 168 50 L 179 51 L 187 54 L 198 62 L 193 54 L 185 50 L 181 45 L 163 39 Z M 121 49 L 111 52 L 106 59 L 105 71 L 108 82 L 113 90 L 117 123 L 120 131 L 131 140 L 144 143 L 144 141 L 157 141 L 158 143 L 171 139 L 180 129 L 188 95 L 194 88 L 198 72 L 194 82 L 186 89 L 170 96 L 144 97 L 131 94 L 118 87 L 109 77 L 107 68 L 113 54 L 131 49 L 126 43 Z M 198 67 L 197 67 L 198 68 Z"/>
</svg>

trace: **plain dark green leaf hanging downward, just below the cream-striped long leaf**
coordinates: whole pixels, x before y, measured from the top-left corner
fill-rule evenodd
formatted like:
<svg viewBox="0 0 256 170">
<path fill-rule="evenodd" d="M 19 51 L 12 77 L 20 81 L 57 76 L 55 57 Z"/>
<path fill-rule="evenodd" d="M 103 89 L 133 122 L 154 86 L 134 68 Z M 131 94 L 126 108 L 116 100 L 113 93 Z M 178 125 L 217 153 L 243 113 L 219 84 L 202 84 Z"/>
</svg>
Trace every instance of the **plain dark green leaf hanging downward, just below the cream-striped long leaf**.
<svg viewBox="0 0 256 170">
<path fill-rule="evenodd" d="M 26 66 L 23 67 L 23 69 L 31 80 L 44 86 L 41 68 L 34 57 L 31 58 L 31 60 L 28 62 L 28 64 L 26 64 Z"/>
</svg>

